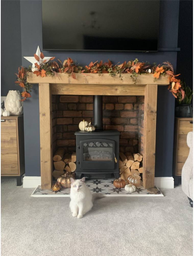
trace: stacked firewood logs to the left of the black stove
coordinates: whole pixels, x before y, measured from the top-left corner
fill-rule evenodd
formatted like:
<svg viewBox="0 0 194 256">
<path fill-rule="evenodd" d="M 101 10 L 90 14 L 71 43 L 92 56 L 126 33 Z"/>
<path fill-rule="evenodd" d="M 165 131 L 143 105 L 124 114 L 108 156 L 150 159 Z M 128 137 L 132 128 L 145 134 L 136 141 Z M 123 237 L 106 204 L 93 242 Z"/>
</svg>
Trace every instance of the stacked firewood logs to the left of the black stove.
<svg viewBox="0 0 194 256">
<path fill-rule="evenodd" d="M 76 170 L 76 152 L 73 152 L 72 154 L 64 153 L 65 150 L 63 148 L 59 148 L 53 156 L 53 163 L 55 166 L 53 176 L 56 180 L 66 171 L 73 173 Z"/>
</svg>

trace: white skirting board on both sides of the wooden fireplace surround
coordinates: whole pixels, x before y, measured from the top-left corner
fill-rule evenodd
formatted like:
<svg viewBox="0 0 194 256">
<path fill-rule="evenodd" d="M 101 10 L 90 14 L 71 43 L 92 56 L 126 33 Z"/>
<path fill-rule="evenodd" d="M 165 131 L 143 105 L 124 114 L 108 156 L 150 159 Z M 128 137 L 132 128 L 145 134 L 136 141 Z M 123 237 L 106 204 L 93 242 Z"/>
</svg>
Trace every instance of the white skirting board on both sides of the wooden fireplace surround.
<svg viewBox="0 0 194 256">
<path fill-rule="evenodd" d="M 41 186 L 41 177 L 23 177 L 23 188 L 36 188 L 37 186 Z M 155 177 L 155 186 L 161 189 L 174 189 L 174 179 L 173 177 Z"/>
</svg>

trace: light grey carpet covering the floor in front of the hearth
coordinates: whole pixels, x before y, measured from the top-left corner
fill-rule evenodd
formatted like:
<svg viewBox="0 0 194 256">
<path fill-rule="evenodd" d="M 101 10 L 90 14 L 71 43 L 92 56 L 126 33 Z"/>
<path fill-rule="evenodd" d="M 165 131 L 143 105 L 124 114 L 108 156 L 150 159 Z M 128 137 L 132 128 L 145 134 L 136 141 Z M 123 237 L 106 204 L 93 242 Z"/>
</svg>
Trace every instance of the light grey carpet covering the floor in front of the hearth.
<svg viewBox="0 0 194 256">
<path fill-rule="evenodd" d="M 30 197 L 1 181 L 2 256 L 190 256 L 192 212 L 181 185 L 164 197 L 104 197 L 82 219 L 69 198 Z"/>
</svg>

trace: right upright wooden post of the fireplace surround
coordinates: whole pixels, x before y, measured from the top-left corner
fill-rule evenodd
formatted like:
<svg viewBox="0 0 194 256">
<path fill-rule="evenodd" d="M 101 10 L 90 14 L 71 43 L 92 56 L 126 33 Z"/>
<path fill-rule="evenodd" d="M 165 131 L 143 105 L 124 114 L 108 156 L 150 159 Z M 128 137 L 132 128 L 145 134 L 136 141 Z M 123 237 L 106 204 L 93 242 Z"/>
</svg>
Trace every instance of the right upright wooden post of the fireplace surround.
<svg viewBox="0 0 194 256">
<path fill-rule="evenodd" d="M 147 84 L 144 101 L 143 187 L 154 187 L 157 84 Z"/>
</svg>

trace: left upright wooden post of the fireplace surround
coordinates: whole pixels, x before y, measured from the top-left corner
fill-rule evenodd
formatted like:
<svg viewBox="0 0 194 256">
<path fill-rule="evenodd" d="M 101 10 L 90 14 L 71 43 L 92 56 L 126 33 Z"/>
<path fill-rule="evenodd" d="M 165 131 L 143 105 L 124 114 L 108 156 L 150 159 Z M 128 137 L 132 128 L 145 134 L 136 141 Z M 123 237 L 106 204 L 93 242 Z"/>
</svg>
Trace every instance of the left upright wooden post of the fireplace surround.
<svg viewBox="0 0 194 256">
<path fill-rule="evenodd" d="M 52 187 L 52 93 L 51 84 L 39 83 L 41 189 Z"/>
</svg>

